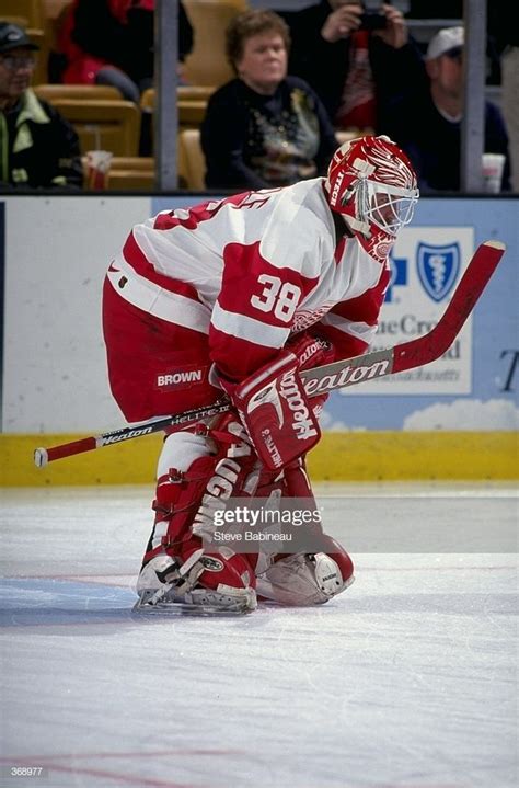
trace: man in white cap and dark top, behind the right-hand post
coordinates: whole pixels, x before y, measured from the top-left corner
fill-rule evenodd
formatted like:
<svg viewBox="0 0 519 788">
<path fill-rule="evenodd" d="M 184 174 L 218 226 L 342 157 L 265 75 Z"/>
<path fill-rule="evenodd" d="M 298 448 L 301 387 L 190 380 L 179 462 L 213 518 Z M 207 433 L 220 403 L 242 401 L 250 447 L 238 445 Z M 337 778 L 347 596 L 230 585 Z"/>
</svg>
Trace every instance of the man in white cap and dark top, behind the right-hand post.
<svg viewBox="0 0 519 788">
<path fill-rule="evenodd" d="M 460 189 L 463 116 L 463 27 L 445 27 L 426 55 L 429 88 L 396 102 L 388 134 L 406 151 L 424 192 Z M 503 115 L 485 102 L 485 152 L 506 157 L 503 190 L 510 189 L 508 136 Z"/>
</svg>

